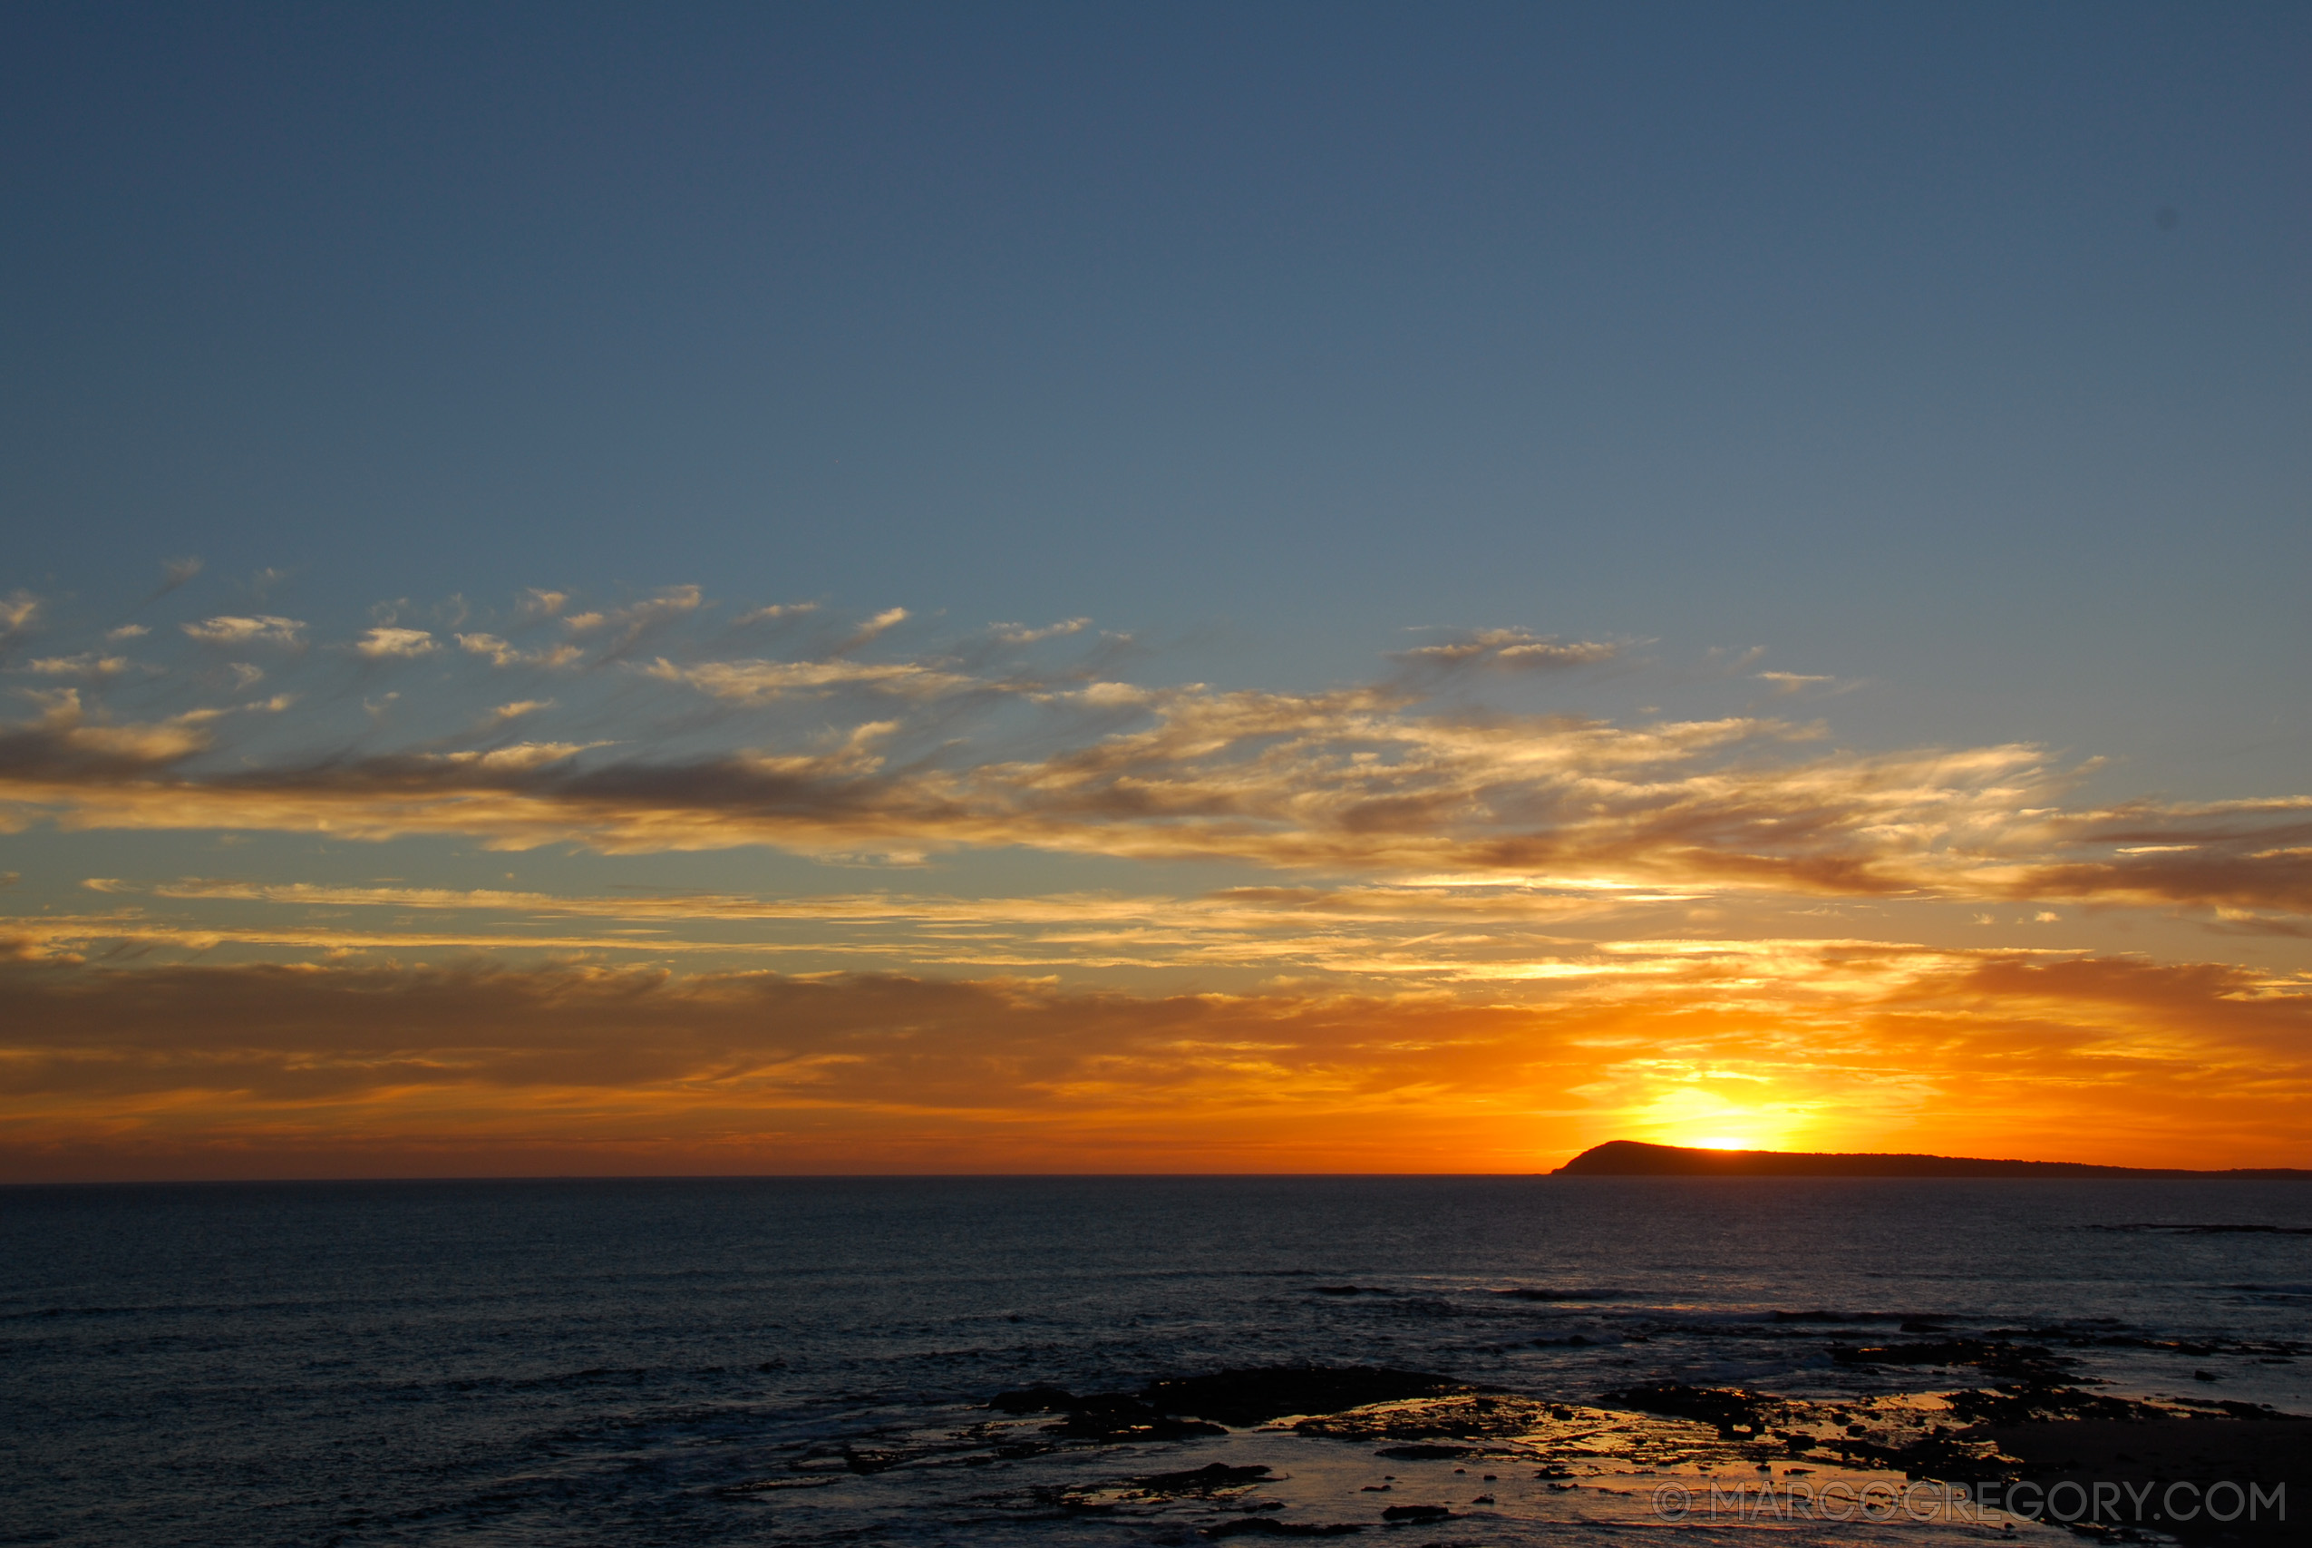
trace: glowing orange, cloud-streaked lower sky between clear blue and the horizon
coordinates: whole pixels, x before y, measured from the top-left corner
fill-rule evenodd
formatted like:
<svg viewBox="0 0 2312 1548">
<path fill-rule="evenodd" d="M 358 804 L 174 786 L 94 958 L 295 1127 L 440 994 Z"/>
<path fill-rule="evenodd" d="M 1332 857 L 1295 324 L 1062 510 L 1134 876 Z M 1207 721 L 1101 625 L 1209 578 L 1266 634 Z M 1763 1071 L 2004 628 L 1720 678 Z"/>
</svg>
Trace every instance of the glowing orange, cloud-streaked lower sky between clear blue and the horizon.
<svg viewBox="0 0 2312 1548">
<path fill-rule="evenodd" d="M 1519 710 L 1625 648 L 1512 629 L 1221 692 L 571 606 L 358 696 L 294 618 L 21 655 L 0 1175 L 2312 1164 L 2303 798 Z"/>
</svg>

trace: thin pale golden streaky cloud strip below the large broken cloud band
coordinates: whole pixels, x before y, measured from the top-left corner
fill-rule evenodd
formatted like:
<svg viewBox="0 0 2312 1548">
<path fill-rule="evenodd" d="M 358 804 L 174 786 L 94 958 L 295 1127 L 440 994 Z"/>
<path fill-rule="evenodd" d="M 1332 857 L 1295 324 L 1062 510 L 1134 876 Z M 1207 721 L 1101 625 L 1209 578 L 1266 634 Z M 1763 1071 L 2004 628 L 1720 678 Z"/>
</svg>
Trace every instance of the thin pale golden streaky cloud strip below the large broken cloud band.
<svg viewBox="0 0 2312 1548">
<path fill-rule="evenodd" d="M 220 944 L 298 951 L 418 953 L 446 944 L 472 949 L 562 949 L 622 956 L 724 958 L 809 956 L 828 967 L 946 970 L 1156 970 L 1228 974 L 1327 974 L 1369 986 L 1521 983 L 1535 965 L 1570 976 L 1572 958 L 1593 946 L 1551 935 L 1549 926 L 1605 919 L 1616 909 L 1662 902 L 1660 895 L 1600 905 L 1579 893 L 1544 893 L 1500 884 L 1403 889 L 1228 889 L 1221 893 L 1119 895 L 1057 893 L 973 898 L 941 893 L 608 893 L 562 895 L 518 889 L 446 889 L 407 884 L 314 884 L 180 877 L 129 882 L 90 877 L 83 889 L 106 898 L 192 905 L 166 923 L 139 914 L 16 921 L 58 951 L 102 939 L 155 946 Z M 220 912 L 220 905 L 231 905 Z M 245 905 L 259 905 L 252 914 Z M 391 912 L 393 923 L 375 914 Z M 412 923 L 416 914 L 430 916 Z M 573 937 L 546 921 L 638 921 L 615 935 Z M 731 935 L 714 926 L 749 926 Z M 1586 958 L 1584 958 L 1586 960 Z M 1584 967 L 1579 972 L 1600 972 Z"/>
</svg>

